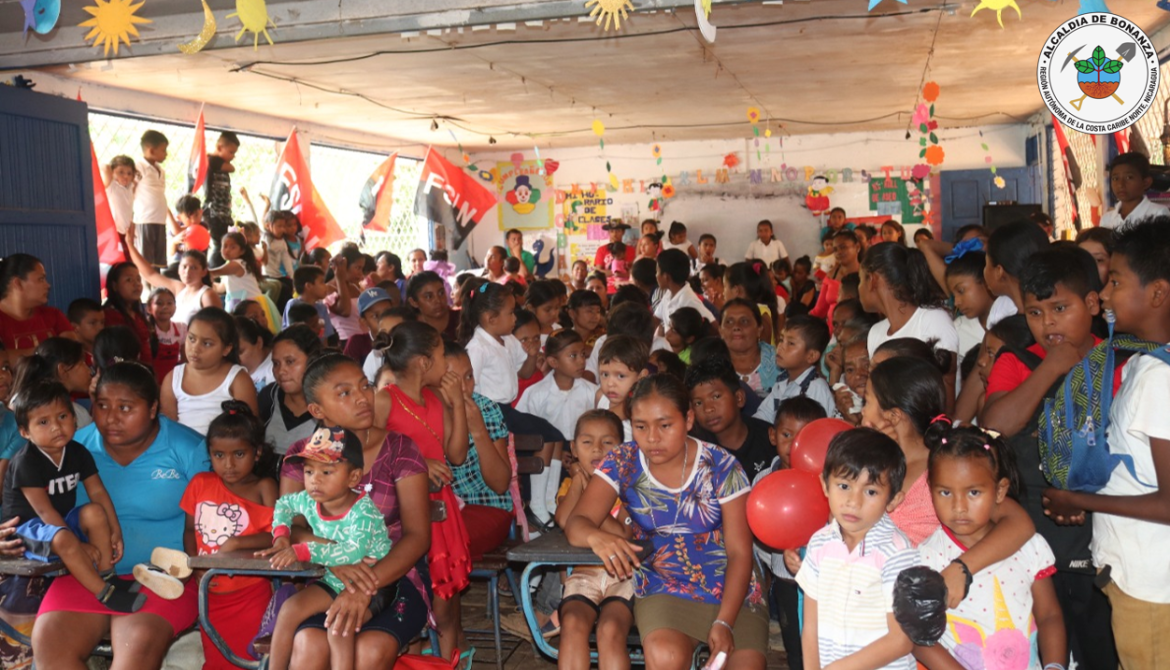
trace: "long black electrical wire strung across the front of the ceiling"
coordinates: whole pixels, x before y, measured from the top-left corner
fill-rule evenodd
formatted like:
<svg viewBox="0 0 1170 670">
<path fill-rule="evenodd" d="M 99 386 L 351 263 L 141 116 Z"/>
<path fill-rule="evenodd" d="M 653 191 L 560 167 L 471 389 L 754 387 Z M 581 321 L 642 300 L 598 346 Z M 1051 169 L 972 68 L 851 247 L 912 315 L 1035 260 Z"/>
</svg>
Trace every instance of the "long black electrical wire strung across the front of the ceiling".
<svg viewBox="0 0 1170 670">
<path fill-rule="evenodd" d="M 944 4 L 945 5 L 945 4 Z M 819 16 L 804 16 L 800 19 L 779 19 L 776 21 L 758 21 L 755 23 L 738 23 L 735 26 L 720 26 L 720 30 L 743 30 L 750 28 L 771 28 L 776 26 L 792 26 L 797 23 L 810 23 L 814 21 L 872 21 L 876 19 L 893 19 L 897 16 L 915 16 L 918 14 L 929 14 L 930 12 L 942 12 L 942 7 L 923 7 L 921 9 L 907 9 L 904 12 L 890 12 L 888 14 L 844 14 L 844 15 L 819 15 Z M 660 35 L 673 35 L 675 33 L 689 33 L 697 32 L 698 28 L 695 26 L 681 26 L 679 28 L 666 28 L 662 30 L 647 30 L 645 33 L 621 33 L 617 35 L 611 35 L 608 33 L 589 36 L 589 37 L 564 37 L 564 39 L 535 39 L 535 40 L 496 40 L 494 42 L 481 42 L 477 44 L 448 44 L 443 47 L 433 47 L 426 49 L 379 49 L 377 51 L 371 51 L 369 54 L 360 54 L 357 56 L 346 56 L 343 58 L 326 58 L 321 61 L 252 61 L 248 63 L 241 63 L 236 65 L 230 71 L 247 70 L 253 65 L 296 65 L 296 67 L 308 67 L 308 65 L 333 65 L 338 63 L 353 63 L 357 61 L 365 61 L 367 58 L 376 58 L 378 56 L 401 56 L 411 54 L 435 54 L 446 51 L 466 51 L 470 49 L 486 49 L 490 47 L 511 47 L 511 46 L 524 46 L 524 44 L 574 44 L 580 42 L 612 42 L 620 40 L 634 40 L 639 37 L 655 37 Z"/>
</svg>

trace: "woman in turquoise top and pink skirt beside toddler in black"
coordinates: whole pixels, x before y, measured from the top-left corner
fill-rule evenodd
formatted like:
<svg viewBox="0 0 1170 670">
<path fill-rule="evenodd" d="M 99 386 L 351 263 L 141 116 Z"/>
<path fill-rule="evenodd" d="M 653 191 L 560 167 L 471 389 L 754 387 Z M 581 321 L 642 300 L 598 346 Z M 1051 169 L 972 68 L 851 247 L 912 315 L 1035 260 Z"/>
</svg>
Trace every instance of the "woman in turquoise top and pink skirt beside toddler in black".
<svg viewBox="0 0 1170 670">
<path fill-rule="evenodd" d="M 94 423 L 74 440 L 92 454 L 122 522 L 125 550 L 117 573 L 126 575 L 135 564 L 149 562 L 157 546 L 181 551 L 186 516 L 179 499 L 211 463 L 202 436 L 159 416 L 153 371 L 137 361 L 106 369 L 94 394 Z M 81 495 L 77 504 L 88 502 Z M 77 580 L 60 576 L 44 595 L 33 629 L 40 666 L 83 663 L 109 634 L 118 655 L 133 658 L 135 668 L 159 668 L 171 641 L 191 628 L 199 613 L 194 580 L 177 600 L 146 592 L 146 605 L 129 615 L 78 598 L 77 588 Z"/>
</svg>

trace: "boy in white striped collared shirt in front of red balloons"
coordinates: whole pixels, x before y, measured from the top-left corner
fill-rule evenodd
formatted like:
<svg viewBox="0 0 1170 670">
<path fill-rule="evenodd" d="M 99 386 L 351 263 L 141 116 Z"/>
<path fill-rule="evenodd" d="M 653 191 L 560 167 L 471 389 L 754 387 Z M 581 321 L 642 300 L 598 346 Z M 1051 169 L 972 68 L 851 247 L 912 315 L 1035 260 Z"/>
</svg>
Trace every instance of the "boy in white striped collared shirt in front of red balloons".
<svg viewBox="0 0 1170 670">
<path fill-rule="evenodd" d="M 918 551 L 888 512 L 902 502 L 906 457 L 893 438 L 854 428 L 830 442 L 821 470 L 832 520 L 808 540 L 804 589 L 805 668 L 914 670 L 914 645 L 894 620 L 894 582 Z"/>
</svg>

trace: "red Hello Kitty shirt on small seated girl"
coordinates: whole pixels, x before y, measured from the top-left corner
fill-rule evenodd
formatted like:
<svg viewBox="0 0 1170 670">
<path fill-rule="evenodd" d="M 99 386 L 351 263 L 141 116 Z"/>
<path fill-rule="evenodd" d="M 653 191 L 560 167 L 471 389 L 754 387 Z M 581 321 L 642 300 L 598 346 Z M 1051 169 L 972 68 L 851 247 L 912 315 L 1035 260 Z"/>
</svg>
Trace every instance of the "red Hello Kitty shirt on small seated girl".
<svg viewBox="0 0 1170 670">
<path fill-rule="evenodd" d="M 179 506 L 194 522 L 199 555 L 219 552 L 229 538 L 273 532 L 273 507 L 227 490 L 215 472 L 200 472 L 187 484 Z M 218 576 L 212 593 L 230 593 L 267 581 L 257 576 Z"/>
</svg>

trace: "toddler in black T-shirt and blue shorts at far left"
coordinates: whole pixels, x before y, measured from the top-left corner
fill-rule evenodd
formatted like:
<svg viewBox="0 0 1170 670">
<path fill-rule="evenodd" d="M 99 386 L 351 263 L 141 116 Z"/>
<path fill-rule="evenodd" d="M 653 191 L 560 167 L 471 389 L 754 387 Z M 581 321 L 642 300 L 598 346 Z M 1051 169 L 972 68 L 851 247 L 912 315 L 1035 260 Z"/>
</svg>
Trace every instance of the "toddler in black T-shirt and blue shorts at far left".
<svg viewBox="0 0 1170 670">
<path fill-rule="evenodd" d="M 115 578 L 122 558 L 122 526 L 97 464 L 74 442 L 77 419 L 69 392 L 60 382 L 30 384 L 12 401 L 20 435 L 28 443 L 5 472 L 0 522 L 20 519 L 16 538 L 25 558 L 60 558 L 69 573 L 113 612 L 137 612 L 146 595 L 138 585 Z M 92 503 L 76 506 L 77 485 Z"/>
</svg>

